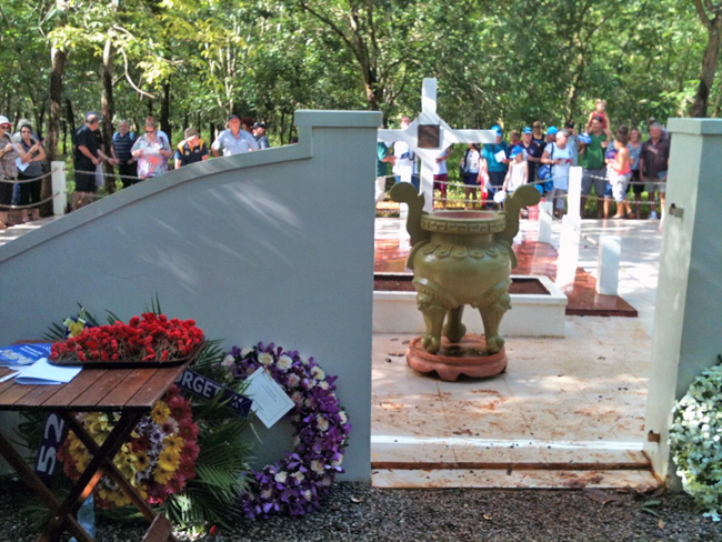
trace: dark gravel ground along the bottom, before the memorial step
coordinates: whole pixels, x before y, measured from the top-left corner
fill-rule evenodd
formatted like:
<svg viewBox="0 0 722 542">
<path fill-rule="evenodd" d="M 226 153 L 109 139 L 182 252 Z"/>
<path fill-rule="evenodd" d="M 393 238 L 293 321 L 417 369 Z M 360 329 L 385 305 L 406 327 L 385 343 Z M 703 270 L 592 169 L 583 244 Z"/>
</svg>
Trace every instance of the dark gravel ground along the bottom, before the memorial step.
<svg viewBox="0 0 722 542">
<path fill-rule="evenodd" d="M 39 533 L 0 494 L 0 541 Z M 100 520 L 100 542 L 140 542 L 143 529 Z M 722 541 L 685 494 L 640 495 L 611 490 L 382 490 L 340 483 L 324 508 L 300 519 L 244 521 L 233 532 L 181 541 Z"/>
</svg>

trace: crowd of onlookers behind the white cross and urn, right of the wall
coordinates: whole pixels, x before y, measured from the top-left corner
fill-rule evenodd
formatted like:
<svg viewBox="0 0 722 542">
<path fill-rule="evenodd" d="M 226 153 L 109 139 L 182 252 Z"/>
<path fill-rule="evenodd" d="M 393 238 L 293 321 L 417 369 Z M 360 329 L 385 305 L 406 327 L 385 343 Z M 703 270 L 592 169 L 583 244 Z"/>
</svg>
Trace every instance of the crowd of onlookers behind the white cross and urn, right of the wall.
<svg viewBox="0 0 722 542">
<path fill-rule="evenodd" d="M 572 165 L 582 167 L 582 212 L 586 199 L 595 197 L 596 218 L 610 218 L 611 202 L 616 203 L 612 218 L 641 218 L 642 193 L 646 192 L 650 219 L 658 219 L 656 194 L 664 209 L 666 171 L 670 157 L 670 138 L 666 131 L 650 119 L 649 140 L 641 141 L 639 128 L 619 126 L 612 131 L 606 114 L 606 102 L 596 100 L 595 108 L 586 118 L 581 133 L 573 122 L 562 129 L 550 126 L 544 131 L 540 121 L 534 121 L 519 131 L 511 131 L 509 141 L 500 124 L 495 142 L 479 145 L 469 143 L 459 164 L 460 179 L 464 189 L 465 207 L 477 207 L 477 193 L 481 190 L 482 207 L 503 207 L 508 192 L 521 184 L 533 183 L 545 198 L 553 201 L 554 215 L 561 218 L 566 207 L 569 174 Z M 409 117 L 402 117 L 400 129 L 410 124 Z M 448 202 L 447 159 L 451 148 L 441 149 L 435 163 L 434 193 L 439 191 L 442 207 Z M 405 142 L 397 142 L 393 149 L 379 143 L 377 167 L 377 202 L 385 197 L 388 164 L 393 167 L 395 182 L 412 182 L 419 188 L 418 160 L 413 149 Z M 592 192 L 593 191 L 593 192 Z M 634 207 L 630 198 L 634 199 Z"/>
</svg>

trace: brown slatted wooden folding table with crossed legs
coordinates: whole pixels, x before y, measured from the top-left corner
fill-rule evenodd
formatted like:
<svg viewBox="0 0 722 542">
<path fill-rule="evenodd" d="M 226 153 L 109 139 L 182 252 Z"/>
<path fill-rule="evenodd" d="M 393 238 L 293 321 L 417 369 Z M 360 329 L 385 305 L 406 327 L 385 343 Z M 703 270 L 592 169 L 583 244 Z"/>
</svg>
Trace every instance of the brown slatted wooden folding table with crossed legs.
<svg viewBox="0 0 722 542">
<path fill-rule="evenodd" d="M 0 454 L 51 511 L 52 518 L 38 538 L 39 542 L 60 540 L 63 531 L 70 531 L 79 541 L 92 542 L 76 520 L 76 514 L 102 474 L 110 476 L 151 523 L 143 542 L 176 540 L 168 519 L 153 512 L 116 469 L 112 459 L 129 440 L 140 419 L 150 413 L 156 402 L 187 365 L 188 362 L 152 369 L 83 368 L 71 382 L 61 385 L 23 385 L 14 380 L 0 383 L 0 410 L 54 412 L 92 454 L 88 468 L 71 488 L 66 500 L 60 502 L 16 451 L 10 440 L 0 432 Z M 8 369 L 0 368 L 0 378 L 8 372 Z M 103 444 L 98 446 L 76 420 L 74 412 L 117 412 L 120 419 Z"/>
</svg>

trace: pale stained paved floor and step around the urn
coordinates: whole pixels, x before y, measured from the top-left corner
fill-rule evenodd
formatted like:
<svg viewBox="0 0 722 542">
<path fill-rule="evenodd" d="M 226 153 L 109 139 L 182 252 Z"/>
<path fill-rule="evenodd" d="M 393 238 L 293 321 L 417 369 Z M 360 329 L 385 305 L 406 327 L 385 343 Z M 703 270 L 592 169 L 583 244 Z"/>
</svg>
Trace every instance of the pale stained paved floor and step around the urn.
<svg viewBox="0 0 722 542">
<path fill-rule="evenodd" d="M 377 220 L 379 263 L 401 262 L 394 219 Z M 441 382 L 405 363 L 413 335 L 373 340 L 372 480 L 374 485 L 493 488 L 646 488 L 656 482 L 642 453 L 651 355 L 659 222 L 584 221 L 578 273 L 596 273 L 594 241 L 622 238 L 620 297 L 639 318 L 568 315 L 563 339 L 510 338 L 505 373 Z M 525 268 L 554 271 L 551 245 L 534 243 L 522 222 Z M 400 248 L 401 247 L 401 248 Z M 387 258 L 379 258 L 379 248 Z M 575 288 L 576 290 L 576 288 Z M 588 312 L 590 313 L 590 312 Z"/>
</svg>

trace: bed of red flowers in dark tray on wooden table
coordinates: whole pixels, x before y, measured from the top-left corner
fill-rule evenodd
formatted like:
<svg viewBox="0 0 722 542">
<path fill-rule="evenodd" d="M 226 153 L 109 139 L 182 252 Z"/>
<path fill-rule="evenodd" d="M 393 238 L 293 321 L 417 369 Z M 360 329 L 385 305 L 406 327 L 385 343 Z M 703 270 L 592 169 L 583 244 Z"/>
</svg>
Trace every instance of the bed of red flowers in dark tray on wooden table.
<svg viewBox="0 0 722 542">
<path fill-rule="evenodd" d="M 116 320 L 112 324 L 81 329 L 77 335 L 53 343 L 50 359 L 170 361 L 190 355 L 202 341 L 203 330 L 193 320 L 146 312 L 128 323 Z"/>
</svg>

